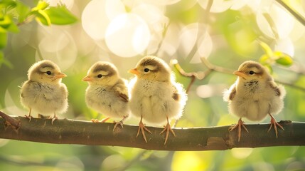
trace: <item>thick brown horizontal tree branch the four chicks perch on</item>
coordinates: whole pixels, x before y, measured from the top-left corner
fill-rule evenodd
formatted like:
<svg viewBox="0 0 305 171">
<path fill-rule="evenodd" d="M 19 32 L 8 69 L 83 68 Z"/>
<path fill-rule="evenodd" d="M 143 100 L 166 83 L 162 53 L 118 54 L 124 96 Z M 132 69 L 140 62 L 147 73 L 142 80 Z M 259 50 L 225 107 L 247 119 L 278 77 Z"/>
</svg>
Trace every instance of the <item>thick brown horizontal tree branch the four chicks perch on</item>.
<svg viewBox="0 0 305 171">
<path fill-rule="evenodd" d="M 138 126 L 124 125 L 112 131 L 113 123 L 91 123 L 81 120 L 55 120 L 8 116 L 18 120 L 19 128 L 6 127 L 6 118 L 0 118 L 0 138 L 26 140 L 55 144 L 111 145 L 137 147 L 146 150 L 228 150 L 234 147 L 269 147 L 305 145 L 305 123 L 281 121 L 285 130 L 279 129 L 279 138 L 274 130 L 269 133 L 269 124 L 247 125 L 249 133 L 242 131 L 240 142 L 237 131 L 228 131 L 230 125 L 210 128 L 173 128 L 176 137 L 170 135 L 164 145 L 162 128 L 147 127 L 152 134 L 146 134 L 145 142 L 141 134 L 136 138 Z"/>
</svg>

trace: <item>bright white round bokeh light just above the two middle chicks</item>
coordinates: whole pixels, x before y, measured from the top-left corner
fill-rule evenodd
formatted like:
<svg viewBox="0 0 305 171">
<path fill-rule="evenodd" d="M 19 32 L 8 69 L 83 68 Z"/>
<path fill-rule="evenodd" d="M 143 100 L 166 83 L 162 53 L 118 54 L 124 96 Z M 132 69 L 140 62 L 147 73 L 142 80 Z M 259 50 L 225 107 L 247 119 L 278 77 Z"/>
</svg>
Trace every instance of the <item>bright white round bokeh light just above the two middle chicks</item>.
<svg viewBox="0 0 305 171">
<path fill-rule="evenodd" d="M 105 41 L 112 53 L 132 57 L 142 53 L 149 44 L 149 26 L 136 14 L 121 14 L 107 27 Z"/>
</svg>

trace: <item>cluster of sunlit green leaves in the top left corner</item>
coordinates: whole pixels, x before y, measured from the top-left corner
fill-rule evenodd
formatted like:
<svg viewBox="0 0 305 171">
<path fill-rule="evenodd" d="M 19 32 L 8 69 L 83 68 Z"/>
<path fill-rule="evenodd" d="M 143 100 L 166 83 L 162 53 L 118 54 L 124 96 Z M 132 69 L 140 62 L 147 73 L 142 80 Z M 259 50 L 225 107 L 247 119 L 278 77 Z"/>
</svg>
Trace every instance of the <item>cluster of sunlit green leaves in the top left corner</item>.
<svg viewBox="0 0 305 171">
<path fill-rule="evenodd" d="M 45 26 L 67 25 L 77 21 L 63 4 L 50 6 L 46 1 L 38 1 L 36 6 L 27 6 L 22 1 L 3 0 L 0 1 L 0 66 L 6 64 L 11 66 L 4 58 L 3 49 L 6 47 L 8 33 L 18 33 L 22 24 L 27 24 L 35 19 Z"/>
</svg>

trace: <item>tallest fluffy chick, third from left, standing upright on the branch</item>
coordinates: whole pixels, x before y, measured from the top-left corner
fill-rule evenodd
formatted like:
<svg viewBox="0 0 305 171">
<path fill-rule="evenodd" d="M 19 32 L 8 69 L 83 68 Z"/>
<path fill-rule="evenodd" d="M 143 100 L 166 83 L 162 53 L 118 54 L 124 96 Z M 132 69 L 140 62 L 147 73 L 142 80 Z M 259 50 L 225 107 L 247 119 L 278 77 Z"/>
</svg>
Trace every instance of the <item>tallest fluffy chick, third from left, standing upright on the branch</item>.
<svg viewBox="0 0 305 171">
<path fill-rule="evenodd" d="M 186 105 L 187 95 L 183 87 L 175 82 L 171 68 L 155 56 L 145 56 L 129 73 L 136 75 L 129 84 L 129 106 L 133 115 L 141 117 L 137 136 L 141 130 L 147 142 L 144 130 L 151 133 L 142 123 L 142 119 L 157 125 L 166 123 L 160 133 L 166 132 L 165 145 L 169 131 L 176 136 L 169 124 L 170 120 L 180 118 Z"/>
</svg>

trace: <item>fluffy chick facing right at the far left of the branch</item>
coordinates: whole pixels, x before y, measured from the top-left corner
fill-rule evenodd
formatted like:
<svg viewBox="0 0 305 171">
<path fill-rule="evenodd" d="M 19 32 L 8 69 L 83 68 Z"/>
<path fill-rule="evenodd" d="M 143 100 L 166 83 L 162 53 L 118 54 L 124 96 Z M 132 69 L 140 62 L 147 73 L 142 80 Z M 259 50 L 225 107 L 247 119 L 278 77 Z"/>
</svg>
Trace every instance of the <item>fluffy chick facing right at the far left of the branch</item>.
<svg viewBox="0 0 305 171">
<path fill-rule="evenodd" d="M 28 81 L 21 86 L 21 104 L 29 109 L 26 118 L 31 121 L 31 110 L 38 113 L 54 114 L 65 113 L 68 108 L 68 90 L 61 78 L 66 77 L 60 68 L 52 61 L 43 60 L 34 63 L 28 69 Z"/>
</svg>

